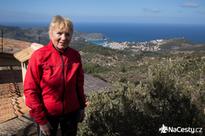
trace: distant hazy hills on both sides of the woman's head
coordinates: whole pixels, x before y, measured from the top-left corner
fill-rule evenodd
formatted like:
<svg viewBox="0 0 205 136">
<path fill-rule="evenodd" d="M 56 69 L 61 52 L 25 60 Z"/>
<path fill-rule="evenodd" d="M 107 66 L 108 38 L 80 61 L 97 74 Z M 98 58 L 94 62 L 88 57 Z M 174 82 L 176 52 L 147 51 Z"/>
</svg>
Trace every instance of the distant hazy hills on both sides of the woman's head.
<svg viewBox="0 0 205 136">
<path fill-rule="evenodd" d="M 0 25 L 5 38 L 47 44 L 49 41 L 47 27 L 20 28 Z M 72 41 L 100 40 L 104 36 L 100 33 L 85 33 L 75 31 Z"/>
</svg>

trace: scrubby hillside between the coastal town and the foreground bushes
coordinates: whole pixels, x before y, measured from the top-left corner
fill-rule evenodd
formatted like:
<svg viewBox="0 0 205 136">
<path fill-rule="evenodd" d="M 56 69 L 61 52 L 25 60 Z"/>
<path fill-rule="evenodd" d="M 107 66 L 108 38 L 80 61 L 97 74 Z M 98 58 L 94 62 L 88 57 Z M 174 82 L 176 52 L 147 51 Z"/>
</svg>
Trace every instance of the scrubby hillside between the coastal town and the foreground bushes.
<svg viewBox="0 0 205 136">
<path fill-rule="evenodd" d="M 151 65 L 205 56 L 202 50 L 197 51 L 196 48 L 188 50 L 189 52 L 175 50 L 174 53 L 173 50 L 169 50 L 169 52 L 136 53 L 131 50 L 114 50 L 88 43 L 73 44 L 72 47 L 81 52 L 87 73 L 110 83 L 115 81 L 139 83 L 146 79 L 146 73 Z"/>
</svg>

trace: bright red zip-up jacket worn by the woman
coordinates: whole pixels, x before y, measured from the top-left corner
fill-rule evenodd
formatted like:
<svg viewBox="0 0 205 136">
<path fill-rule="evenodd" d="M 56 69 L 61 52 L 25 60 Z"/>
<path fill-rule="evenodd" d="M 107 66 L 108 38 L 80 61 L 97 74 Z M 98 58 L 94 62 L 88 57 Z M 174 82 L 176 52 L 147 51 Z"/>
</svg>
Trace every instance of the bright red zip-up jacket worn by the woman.
<svg viewBox="0 0 205 136">
<path fill-rule="evenodd" d="M 80 54 L 72 48 L 59 53 L 52 42 L 32 54 L 24 81 L 26 105 L 38 124 L 85 107 Z"/>
</svg>

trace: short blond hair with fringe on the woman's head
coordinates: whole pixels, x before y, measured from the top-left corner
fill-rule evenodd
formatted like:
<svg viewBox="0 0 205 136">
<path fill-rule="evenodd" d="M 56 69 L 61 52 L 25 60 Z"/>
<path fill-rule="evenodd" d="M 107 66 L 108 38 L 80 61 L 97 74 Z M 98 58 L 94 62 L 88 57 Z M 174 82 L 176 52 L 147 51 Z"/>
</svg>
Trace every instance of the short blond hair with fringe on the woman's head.
<svg viewBox="0 0 205 136">
<path fill-rule="evenodd" d="M 73 33 L 73 23 L 69 18 L 60 15 L 54 16 L 49 26 L 49 33 L 56 29 L 66 30 Z"/>
</svg>

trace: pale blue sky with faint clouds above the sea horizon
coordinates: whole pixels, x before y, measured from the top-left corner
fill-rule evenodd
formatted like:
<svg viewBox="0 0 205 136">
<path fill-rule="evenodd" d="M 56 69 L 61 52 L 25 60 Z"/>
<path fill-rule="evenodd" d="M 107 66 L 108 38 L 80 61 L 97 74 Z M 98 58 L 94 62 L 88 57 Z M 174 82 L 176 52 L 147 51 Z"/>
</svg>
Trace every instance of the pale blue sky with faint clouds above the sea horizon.
<svg viewBox="0 0 205 136">
<path fill-rule="evenodd" d="M 62 15 L 73 22 L 205 25 L 205 0 L 1 0 L 0 24 L 50 22 Z"/>
</svg>

